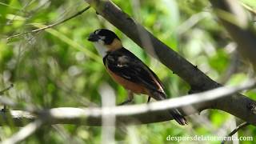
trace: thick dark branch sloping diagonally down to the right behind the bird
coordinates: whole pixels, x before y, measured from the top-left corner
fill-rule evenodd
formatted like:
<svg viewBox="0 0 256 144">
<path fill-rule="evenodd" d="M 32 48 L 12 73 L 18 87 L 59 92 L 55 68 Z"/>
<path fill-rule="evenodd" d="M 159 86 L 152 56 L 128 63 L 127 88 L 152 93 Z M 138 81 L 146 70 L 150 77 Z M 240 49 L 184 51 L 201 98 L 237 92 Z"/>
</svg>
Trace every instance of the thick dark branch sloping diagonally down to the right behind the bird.
<svg viewBox="0 0 256 144">
<path fill-rule="evenodd" d="M 108 0 L 86 0 L 86 2 L 88 2 L 90 6 L 97 11 L 97 14 L 102 15 L 103 18 L 116 26 L 135 43 L 137 43 L 138 46 L 141 46 L 144 49 L 146 49 L 146 47 L 143 47 L 143 42 L 140 35 L 147 35 L 154 49 L 154 52 L 150 54 L 158 58 L 159 61 L 167 66 L 170 70 L 173 70 L 174 74 L 178 74 L 179 77 L 188 82 L 192 91 L 211 90 L 220 86 L 218 82 L 214 82 L 214 80 L 209 78 L 201 70 L 198 70 L 197 66 L 192 65 L 169 46 L 166 46 L 164 43 L 158 40 L 158 38 L 155 38 L 153 34 L 135 22 L 128 14 L 123 12 L 112 2 Z M 238 118 L 242 118 L 246 122 L 255 123 L 255 106 L 256 102 L 254 100 L 247 98 L 242 94 L 233 94 L 230 97 L 219 98 L 214 102 L 209 102 L 207 105 L 197 105 L 195 107 L 198 109 L 203 108 L 202 110 L 206 108 L 223 110 Z M 143 117 L 146 117 L 146 115 L 143 115 Z M 160 120 L 161 115 L 158 115 L 158 117 Z"/>
</svg>

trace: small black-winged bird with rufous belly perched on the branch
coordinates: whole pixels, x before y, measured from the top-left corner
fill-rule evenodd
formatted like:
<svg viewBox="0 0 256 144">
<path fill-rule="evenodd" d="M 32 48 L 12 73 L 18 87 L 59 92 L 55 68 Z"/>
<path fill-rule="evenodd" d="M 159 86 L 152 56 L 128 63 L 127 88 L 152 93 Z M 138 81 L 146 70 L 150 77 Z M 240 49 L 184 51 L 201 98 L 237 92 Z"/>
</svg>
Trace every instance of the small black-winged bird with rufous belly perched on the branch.
<svg viewBox="0 0 256 144">
<path fill-rule="evenodd" d="M 95 30 L 88 40 L 94 42 L 98 53 L 102 55 L 107 72 L 114 81 L 132 93 L 147 94 L 148 101 L 150 98 L 158 101 L 166 99 L 166 93 L 158 76 L 139 58 L 126 50 L 113 31 Z M 131 102 L 132 98 L 131 94 L 126 102 Z M 186 118 L 177 109 L 170 110 L 170 114 L 180 125 L 187 124 Z"/>
</svg>

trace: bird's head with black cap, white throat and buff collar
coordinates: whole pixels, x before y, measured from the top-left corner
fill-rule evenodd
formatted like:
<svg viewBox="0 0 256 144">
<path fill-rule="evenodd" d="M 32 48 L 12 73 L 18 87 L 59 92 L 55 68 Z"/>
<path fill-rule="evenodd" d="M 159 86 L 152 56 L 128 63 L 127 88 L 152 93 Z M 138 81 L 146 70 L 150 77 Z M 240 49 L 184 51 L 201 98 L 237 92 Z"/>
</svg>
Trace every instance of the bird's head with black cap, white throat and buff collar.
<svg viewBox="0 0 256 144">
<path fill-rule="evenodd" d="M 94 46 L 102 57 L 106 56 L 108 51 L 122 48 L 122 42 L 116 34 L 111 30 L 98 29 L 91 33 L 88 41 L 94 42 Z"/>
</svg>

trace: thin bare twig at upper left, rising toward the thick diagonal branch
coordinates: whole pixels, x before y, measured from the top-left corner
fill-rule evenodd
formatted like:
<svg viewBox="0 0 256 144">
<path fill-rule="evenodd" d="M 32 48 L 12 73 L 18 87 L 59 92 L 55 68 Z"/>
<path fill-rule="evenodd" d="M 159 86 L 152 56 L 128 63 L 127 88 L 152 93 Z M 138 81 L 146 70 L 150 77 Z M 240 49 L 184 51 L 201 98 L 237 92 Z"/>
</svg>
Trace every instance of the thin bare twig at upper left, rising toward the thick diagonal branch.
<svg viewBox="0 0 256 144">
<path fill-rule="evenodd" d="M 6 40 L 10 40 L 10 38 L 19 37 L 19 36 L 22 36 L 22 35 L 24 35 L 24 34 L 35 33 L 35 32 L 41 31 L 41 30 L 49 29 L 49 28 L 51 28 L 51 27 L 53 27 L 53 26 L 60 25 L 60 24 L 62 24 L 63 22 L 66 22 L 66 21 L 68 21 L 68 20 L 70 20 L 70 19 L 72 19 L 72 18 L 77 17 L 78 15 L 82 14 L 83 12 L 85 12 L 86 10 L 88 10 L 89 8 L 90 8 L 90 6 L 87 6 L 87 7 L 84 8 L 83 10 L 78 11 L 77 14 L 74 14 L 74 15 L 70 16 L 69 18 L 66 18 L 66 19 L 62 20 L 61 22 L 56 22 L 56 23 L 54 23 L 54 24 L 51 24 L 51 25 L 48 25 L 48 26 L 45 26 L 45 27 L 42 27 L 42 28 L 39 28 L 39 29 L 36 29 L 36 30 L 26 31 L 26 32 L 24 32 L 24 33 L 22 33 L 22 34 L 15 34 L 15 35 L 12 35 L 12 36 L 6 38 Z"/>
</svg>

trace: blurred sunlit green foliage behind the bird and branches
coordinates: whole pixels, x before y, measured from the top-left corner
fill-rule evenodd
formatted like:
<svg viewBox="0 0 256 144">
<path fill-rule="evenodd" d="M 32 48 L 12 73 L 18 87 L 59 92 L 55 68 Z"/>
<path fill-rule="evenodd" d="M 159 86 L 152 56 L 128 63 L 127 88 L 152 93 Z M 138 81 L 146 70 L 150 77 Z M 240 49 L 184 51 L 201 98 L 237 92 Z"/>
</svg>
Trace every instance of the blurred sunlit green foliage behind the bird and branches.
<svg viewBox="0 0 256 144">
<path fill-rule="evenodd" d="M 238 54 L 236 44 L 218 23 L 208 1 L 113 2 L 215 81 L 237 85 L 253 75 L 250 65 Z M 240 2 L 247 9 L 256 10 L 256 1 Z M 94 30 L 107 28 L 118 34 L 123 46 L 158 75 L 169 98 L 187 94 L 190 86 L 186 82 L 146 54 L 130 38 L 97 15 L 93 8 L 61 25 L 6 40 L 14 34 L 62 21 L 86 6 L 88 4 L 82 0 L 1 0 L 0 90 L 13 83 L 14 88 L 8 90 L 6 95 L 14 102 L 46 109 L 102 106 L 99 88 L 109 85 L 117 96 L 116 103 L 123 102 L 126 100 L 126 90 L 112 81 L 102 64 L 102 58 L 98 56 L 92 43 L 86 40 Z M 256 14 L 249 10 L 247 14 L 250 21 L 255 23 Z M 243 94 L 256 99 L 255 90 L 244 91 Z M 146 99 L 146 96 L 136 95 L 134 103 L 145 103 Z M 204 110 L 201 114 L 191 115 L 188 120 L 189 126 L 178 126 L 174 121 L 118 126 L 115 129 L 115 141 L 166 143 L 168 135 L 225 136 L 236 124 L 241 123 L 234 116 L 220 110 Z M 0 139 L 9 138 L 18 130 L 15 126 L 2 126 Z M 101 130 L 97 126 L 43 126 L 23 143 L 99 143 Z M 238 136 L 255 135 L 254 126 L 247 126 L 238 132 Z M 240 143 L 255 142 L 254 137 L 254 142 Z"/>
</svg>

